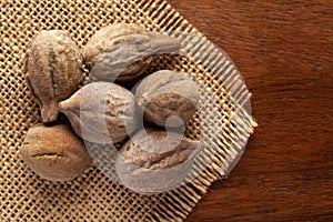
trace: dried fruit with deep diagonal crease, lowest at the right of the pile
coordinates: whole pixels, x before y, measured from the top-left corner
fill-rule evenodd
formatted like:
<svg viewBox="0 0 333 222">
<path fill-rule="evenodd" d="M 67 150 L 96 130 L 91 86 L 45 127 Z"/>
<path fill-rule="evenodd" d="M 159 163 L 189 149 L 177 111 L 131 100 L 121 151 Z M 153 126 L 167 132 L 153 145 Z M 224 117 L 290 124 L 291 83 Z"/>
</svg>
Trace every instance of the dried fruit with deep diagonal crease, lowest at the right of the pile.
<svg viewBox="0 0 333 222">
<path fill-rule="evenodd" d="M 119 180 L 139 193 L 171 190 L 189 174 L 200 142 L 157 129 L 141 130 L 120 150 L 115 161 Z"/>
</svg>

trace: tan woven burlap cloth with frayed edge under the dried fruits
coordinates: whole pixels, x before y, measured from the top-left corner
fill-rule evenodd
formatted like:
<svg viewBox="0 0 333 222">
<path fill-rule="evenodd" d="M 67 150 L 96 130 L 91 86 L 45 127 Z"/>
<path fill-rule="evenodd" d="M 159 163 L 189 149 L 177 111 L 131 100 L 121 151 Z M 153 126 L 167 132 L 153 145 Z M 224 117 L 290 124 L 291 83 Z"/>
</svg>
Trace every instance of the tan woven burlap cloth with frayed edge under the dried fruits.
<svg viewBox="0 0 333 222">
<path fill-rule="evenodd" d="M 165 1 L 1 0 L 0 10 L 1 221 L 182 221 L 211 183 L 236 163 L 255 125 L 250 93 L 230 59 Z M 180 38 L 183 54 L 162 57 L 149 72 L 190 72 L 213 98 L 203 103 L 214 102 L 218 107 L 218 114 L 201 110 L 206 119 L 194 119 L 186 130 L 191 138 L 208 135 L 198 161 L 208 159 L 209 167 L 173 191 L 140 195 L 113 182 L 98 168 L 70 182 L 49 182 L 31 172 L 21 159 L 19 148 L 28 128 L 41 121 L 21 71 L 32 37 L 40 30 L 61 29 L 82 49 L 97 30 L 114 22 L 139 23 Z M 199 168 L 194 167 L 194 171 Z"/>
</svg>

